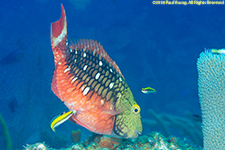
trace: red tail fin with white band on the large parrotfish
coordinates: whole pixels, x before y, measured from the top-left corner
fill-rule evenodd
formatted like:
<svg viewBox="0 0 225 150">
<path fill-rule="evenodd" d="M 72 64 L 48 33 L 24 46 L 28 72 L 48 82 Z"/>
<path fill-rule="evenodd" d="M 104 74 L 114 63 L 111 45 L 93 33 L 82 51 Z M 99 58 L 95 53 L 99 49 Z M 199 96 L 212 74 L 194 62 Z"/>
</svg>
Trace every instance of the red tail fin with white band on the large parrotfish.
<svg viewBox="0 0 225 150">
<path fill-rule="evenodd" d="M 55 64 L 63 57 L 67 49 L 67 22 L 66 13 L 62 4 L 61 9 L 61 18 L 51 23 L 51 45 Z"/>
</svg>

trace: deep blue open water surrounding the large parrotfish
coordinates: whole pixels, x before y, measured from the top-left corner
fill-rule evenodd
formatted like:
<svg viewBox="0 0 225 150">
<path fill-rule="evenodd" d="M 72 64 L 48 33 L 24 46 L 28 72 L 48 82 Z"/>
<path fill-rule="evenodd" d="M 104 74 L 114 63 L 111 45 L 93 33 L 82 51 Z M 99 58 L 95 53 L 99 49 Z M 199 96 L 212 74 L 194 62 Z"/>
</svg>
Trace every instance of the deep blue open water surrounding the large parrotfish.
<svg viewBox="0 0 225 150">
<path fill-rule="evenodd" d="M 204 48 L 225 47 L 224 5 L 163 5 L 150 0 L 8 0 L 0 5 L 0 113 L 13 149 L 45 141 L 52 147 L 72 143 L 81 129 L 66 122 L 53 133 L 51 119 L 68 109 L 51 91 L 54 60 L 50 23 L 63 4 L 68 39 L 94 39 L 117 63 L 143 119 L 148 109 L 183 118 L 201 115 L 196 61 Z M 154 94 L 141 88 L 153 87 Z M 144 124 L 143 134 L 162 132 Z M 171 135 L 185 134 L 171 130 Z M 191 141 L 190 141 L 191 142 Z M 201 145 L 201 144 L 200 144 Z M 0 126 L 0 147 L 6 148 Z"/>
</svg>

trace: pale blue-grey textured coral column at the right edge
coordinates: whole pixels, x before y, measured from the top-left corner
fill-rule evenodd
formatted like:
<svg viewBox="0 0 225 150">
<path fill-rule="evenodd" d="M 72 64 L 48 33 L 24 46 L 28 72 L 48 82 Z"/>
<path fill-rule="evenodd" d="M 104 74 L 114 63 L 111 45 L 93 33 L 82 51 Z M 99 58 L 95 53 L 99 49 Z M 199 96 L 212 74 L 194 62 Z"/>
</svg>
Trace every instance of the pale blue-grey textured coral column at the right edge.
<svg viewBox="0 0 225 150">
<path fill-rule="evenodd" d="M 204 149 L 225 145 L 225 55 L 202 52 L 197 61 Z"/>
</svg>

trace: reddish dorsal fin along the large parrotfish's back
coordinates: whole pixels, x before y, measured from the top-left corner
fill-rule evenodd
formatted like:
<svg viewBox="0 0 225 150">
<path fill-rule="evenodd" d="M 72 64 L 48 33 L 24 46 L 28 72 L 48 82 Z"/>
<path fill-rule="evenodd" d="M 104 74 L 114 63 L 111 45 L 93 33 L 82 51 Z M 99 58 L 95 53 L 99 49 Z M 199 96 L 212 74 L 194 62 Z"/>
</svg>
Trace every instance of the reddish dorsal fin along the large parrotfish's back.
<svg viewBox="0 0 225 150">
<path fill-rule="evenodd" d="M 113 66 L 113 68 L 116 69 L 117 72 L 119 72 L 119 74 L 123 77 L 119 67 L 117 66 L 116 62 L 113 61 L 109 55 L 107 54 L 107 52 L 105 51 L 105 49 L 103 48 L 103 46 L 98 43 L 97 41 L 94 40 L 88 40 L 88 39 L 80 39 L 78 41 L 76 41 L 75 43 L 72 44 L 72 49 L 76 49 L 76 48 L 86 48 L 88 50 L 93 51 L 94 53 L 97 53 L 98 55 L 102 56 L 109 64 L 111 64 Z"/>
</svg>

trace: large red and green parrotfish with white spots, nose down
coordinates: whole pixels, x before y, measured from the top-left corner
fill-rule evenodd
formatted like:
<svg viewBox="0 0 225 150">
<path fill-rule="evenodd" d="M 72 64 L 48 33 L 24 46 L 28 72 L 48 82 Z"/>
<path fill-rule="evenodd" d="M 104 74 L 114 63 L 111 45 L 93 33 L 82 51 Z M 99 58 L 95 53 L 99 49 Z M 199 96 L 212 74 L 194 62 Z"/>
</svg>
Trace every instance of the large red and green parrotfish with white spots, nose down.
<svg viewBox="0 0 225 150">
<path fill-rule="evenodd" d="M 51 24 L 52 91 L 70 111 L 76 111 L 70 117 L 73 122 L 98 134 L 137 138 L 142 132 L 140 107 L 120 69 L 94 40 L 68 44 L 61 7 L 60 20 Z"/>
</svg>

